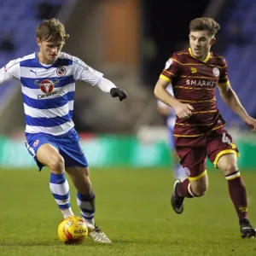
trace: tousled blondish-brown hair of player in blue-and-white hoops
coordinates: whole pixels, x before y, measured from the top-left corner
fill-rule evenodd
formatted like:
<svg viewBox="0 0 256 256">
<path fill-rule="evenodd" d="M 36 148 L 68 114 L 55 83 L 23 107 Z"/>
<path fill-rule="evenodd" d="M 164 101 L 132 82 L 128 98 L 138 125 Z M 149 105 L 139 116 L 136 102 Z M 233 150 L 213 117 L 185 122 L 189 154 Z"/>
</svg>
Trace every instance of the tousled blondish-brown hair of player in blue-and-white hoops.
<svg viewBox="0 0 256 256">
<path fill-rule="evenodd" d="M 38 25 L 36 30 L 37 38 L 43 41 L 61 41 L 65 43 L 69 35 L 65 31 L 65 26 L 56 19 L 44 20 Z"/>
</svg>

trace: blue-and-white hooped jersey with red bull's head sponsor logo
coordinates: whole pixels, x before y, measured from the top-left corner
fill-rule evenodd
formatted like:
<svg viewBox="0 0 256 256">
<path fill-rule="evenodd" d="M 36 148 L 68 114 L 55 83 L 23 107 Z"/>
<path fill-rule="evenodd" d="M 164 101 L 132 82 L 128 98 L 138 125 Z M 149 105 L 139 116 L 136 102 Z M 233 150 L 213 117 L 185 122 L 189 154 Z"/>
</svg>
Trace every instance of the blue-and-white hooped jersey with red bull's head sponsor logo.
<svg viewBox="0 0 256 256">
<path fill-rule="evenodd" d="M 96 85 L 103 74 L 79 58 L 61 52 L 52 65 L 38 61 L 38 53 L 9 61 L 0 69 L 0 84 L 19 79 L 25 110 L 26 133 L 59 136 L 73 124 L 75 81 Z"/>
</svg>

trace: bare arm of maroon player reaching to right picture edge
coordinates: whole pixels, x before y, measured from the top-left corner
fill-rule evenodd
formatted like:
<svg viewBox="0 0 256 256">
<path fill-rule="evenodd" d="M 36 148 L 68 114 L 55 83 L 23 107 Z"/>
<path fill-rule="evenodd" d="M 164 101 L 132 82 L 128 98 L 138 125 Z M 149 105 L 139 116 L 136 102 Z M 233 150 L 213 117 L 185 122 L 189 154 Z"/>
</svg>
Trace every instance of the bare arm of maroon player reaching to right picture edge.
<svg viewBox="0 0 256 256">
<path fill-rule="evenodd" d="M 247 114 L 245 108 L 242 107 L 241 102 L 239 101 L 238 96 L 236 95 L 235 90 L 232 89 L 230 84 L 218 84 L 218 90 L 221 98 L 224 102 L 235 112 L 241 119 L 256 131 L 256 119 L 253 119 Z"/>
</svg>

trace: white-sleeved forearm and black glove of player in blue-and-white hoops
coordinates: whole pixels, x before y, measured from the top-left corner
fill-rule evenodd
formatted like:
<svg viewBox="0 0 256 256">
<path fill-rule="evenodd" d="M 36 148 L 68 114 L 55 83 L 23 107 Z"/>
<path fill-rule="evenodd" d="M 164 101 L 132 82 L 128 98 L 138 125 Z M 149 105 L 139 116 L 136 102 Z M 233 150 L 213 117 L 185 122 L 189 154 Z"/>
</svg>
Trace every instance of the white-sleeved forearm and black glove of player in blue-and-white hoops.
<svg viewBox="0 0 256 256">
<path fill-rule="evenodd" d="M 96 86 L 104 92 L 110 93 L 111 96 L 119 97 L 119 101 L 122 102 L 127 98 L 127 93 L 125 90 L 117 88 L 111 81 L 108 79 L 102 78 Z"/>
</svg>

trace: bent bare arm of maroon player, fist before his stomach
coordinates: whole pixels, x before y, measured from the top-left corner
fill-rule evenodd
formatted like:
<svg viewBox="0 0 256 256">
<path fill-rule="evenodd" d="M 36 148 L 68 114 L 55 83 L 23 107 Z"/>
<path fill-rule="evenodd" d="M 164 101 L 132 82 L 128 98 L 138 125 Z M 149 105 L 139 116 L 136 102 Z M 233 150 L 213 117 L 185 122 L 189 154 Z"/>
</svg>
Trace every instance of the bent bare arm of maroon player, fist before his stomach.
<svg viewBox="0 0 256 256">
<path fill-rule="evenodd" d="M 154 95 L 161 101 L 166 103 L 166 105 L 175 109 L 177 117 L 180 119 L 188 119 L 194 108 L 189 104 L 183 104 L 179 102 L 175 97 L 171 96 L 167 91 L 166 87 L 170 81 L 164 79 L 159 79 L 154 87 Z"/>
</svg>

